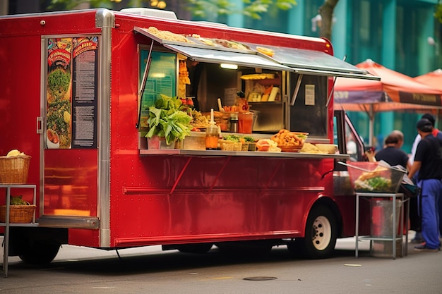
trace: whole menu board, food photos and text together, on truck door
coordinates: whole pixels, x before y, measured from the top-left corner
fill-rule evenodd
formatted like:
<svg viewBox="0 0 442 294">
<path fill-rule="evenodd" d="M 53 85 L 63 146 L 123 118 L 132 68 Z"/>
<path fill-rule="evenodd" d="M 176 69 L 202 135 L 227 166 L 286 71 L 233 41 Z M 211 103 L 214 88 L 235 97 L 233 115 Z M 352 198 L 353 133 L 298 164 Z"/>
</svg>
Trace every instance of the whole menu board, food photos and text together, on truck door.
<svg viewBox="0 0 442 294">
<path fill-rule="evenodd" d="M 97 147 L 98 37 L 47 40 L 48 149 Z"/>
</svg>

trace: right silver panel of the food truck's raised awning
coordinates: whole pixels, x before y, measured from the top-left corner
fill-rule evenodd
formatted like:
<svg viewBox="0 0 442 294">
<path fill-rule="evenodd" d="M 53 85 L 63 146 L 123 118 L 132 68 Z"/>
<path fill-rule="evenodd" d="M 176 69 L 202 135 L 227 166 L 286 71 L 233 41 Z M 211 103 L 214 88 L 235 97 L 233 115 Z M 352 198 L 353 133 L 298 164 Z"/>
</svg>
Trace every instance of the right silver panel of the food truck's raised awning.
<svg viewBox="0 0 442 294">
<path fill-rule="evenodd" d="M 256 50 L 256 47 L 263 46 L 260 44 L 244 44 L 254 50 Z M 359 78 L 364 80 L 381 80 L 381 78 L 377 76 L 370 75 L 368 71 L 357 68 L 350 63 L 322 51 L 268 45 L 265 45 L 264 47 L 272 49 L 275 52 L 273 56 L 267 56 L 268 59 L 291 68 L 295 73 Z M 258 54 L 264 56 L 264 54 L 261 54 L 260 52 L 258 52 Z"/>
</svg>

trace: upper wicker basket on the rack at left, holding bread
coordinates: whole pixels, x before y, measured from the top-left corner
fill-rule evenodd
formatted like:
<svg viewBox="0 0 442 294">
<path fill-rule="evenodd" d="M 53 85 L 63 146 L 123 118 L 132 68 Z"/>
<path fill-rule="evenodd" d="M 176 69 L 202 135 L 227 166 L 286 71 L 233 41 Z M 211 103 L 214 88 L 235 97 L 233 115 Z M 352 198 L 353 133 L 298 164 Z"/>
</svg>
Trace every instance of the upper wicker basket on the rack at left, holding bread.
<svg viewBox="0 0 442 294">
<path fill-rule="evenodd" d="M 25 184 L 28 182 L 30 156 L 0 157 L 0 183 Z"/>
</svg>

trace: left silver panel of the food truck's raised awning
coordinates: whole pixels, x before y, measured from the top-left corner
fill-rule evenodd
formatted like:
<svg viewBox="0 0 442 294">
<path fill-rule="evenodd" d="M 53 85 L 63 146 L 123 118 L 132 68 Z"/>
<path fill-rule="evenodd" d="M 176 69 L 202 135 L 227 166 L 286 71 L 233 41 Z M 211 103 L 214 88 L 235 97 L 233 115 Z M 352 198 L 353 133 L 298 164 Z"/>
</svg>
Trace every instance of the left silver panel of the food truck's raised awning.
<svg viewBox="0 0 442 294">
<path fill-rule="evenodd" d="M 291 68 L 275 61 L 266 59 L 263 56 L 258 56 L 257 54 L 203 49 L 172 44 L 163 44 L 163 46 L 179 54 L 187 56 L 192 61 L 207 63 L 233 63 L 237 64 L 238 66 L 247 66 L 250 68 L 266 68 L 276 71 L 291 71 Z"/>
</svg>

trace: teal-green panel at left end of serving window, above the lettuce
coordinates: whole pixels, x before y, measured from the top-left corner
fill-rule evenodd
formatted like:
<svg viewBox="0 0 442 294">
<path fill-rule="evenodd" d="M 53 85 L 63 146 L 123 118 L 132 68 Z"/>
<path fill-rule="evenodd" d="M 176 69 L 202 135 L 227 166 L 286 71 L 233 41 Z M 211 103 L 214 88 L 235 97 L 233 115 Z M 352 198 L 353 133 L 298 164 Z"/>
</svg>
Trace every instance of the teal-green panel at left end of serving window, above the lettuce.
<svg viewBox="0 0 442 294">
<path fill-rule="evenodd" d="M 143 81 L 143 73 L 148 62 L 149 50 L 140 51 L 140 72 L 138 80 Z M 147 128 L 149 107 L 155 104 L 160 94 L 169 97 L 177 96 L 177 54 L 152 51 L 148 79 L 146 80 L 143 97 L 141 97 L 140 128 Z"/>
</svg>

